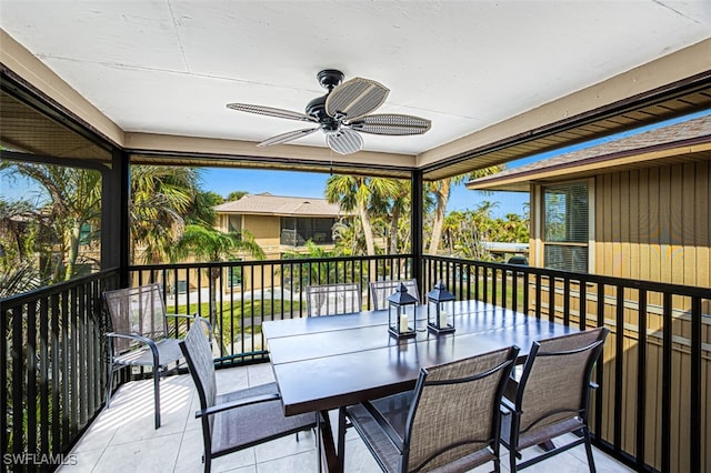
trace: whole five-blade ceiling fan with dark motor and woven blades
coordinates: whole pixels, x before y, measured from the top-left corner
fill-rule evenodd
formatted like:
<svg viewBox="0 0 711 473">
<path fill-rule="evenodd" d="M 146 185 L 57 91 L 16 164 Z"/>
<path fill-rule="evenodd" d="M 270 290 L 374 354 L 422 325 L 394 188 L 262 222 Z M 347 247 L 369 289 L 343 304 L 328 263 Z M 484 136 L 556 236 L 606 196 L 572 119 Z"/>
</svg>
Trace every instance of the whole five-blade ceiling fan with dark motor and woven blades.
<svg viewBox="0 0 711 473">
<path fill-rule="evenodd" d="M 326 143 L 340 154 L 351 154 L 363 148 L 360 133 L 405 135 L 422 134 L 430 120 L 405 114 L 369 114 L 382 105 L 390 89 L 370 79 L 353 78 L 343 83 L 343 73 L 327 69 L 318 73 L 319 83 L 328 89 L 326 95 L 307 104 L 306 113 L 249 103 L 228 103 L 242 112 L 317 123 L 314 128 L 289 131 L 258 143 L 258 147 L 286 143 L 323 130 Z"/>
</svg>

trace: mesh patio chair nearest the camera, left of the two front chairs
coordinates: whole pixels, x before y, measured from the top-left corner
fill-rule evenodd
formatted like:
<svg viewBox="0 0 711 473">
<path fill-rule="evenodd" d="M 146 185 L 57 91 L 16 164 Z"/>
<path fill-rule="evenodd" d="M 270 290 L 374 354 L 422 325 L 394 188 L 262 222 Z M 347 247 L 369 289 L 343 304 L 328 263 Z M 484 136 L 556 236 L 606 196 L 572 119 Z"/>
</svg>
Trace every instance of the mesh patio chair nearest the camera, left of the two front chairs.
<svg viewBox="0 0 711 473">
<path fill-rule="evenodd" d="M 519 349 L 422 369 L 414 391 L 346 407 L 384 472 L 500 471 L 503 389 Z"/>
</svg>

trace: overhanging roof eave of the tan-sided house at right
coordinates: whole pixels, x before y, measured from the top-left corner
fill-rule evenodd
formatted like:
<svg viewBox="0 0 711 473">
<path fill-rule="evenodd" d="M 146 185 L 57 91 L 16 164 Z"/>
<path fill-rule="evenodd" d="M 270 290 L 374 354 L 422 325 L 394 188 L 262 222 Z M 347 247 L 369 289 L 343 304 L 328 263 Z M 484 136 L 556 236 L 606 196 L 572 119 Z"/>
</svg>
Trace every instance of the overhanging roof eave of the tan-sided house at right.
<svg viewBox="0 0 711 473">
<path fill-rule="evenodd" d="M 711 115 L 507 169 L 474 179 L 467 188 L 528 192 L 531 182 L 553 182 L 702 159 L 711 159 Z"/>
</svg>

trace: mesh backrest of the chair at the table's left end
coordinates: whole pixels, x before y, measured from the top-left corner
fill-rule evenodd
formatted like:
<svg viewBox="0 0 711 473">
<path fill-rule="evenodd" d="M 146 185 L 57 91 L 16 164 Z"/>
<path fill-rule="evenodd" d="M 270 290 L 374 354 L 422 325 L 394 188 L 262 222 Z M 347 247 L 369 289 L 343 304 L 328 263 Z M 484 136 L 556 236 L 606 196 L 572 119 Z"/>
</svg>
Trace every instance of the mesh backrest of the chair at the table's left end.
<svg viewBox="0 0 711 473">
<path fill-rule="evenodd" d="M 210 346 L 210 339 L 208 336 L 209 330 L 207 321 L 200 316 L 196 316 L 186 339 L 179 343 L 180 351 L 182 351 L 182 355 L 188 363 L 188 370 L 190 371 L 192 381 L 196 383 L 201 410 L 212 407 L 218 394 L 212 348 Z M 209 427 L 210 435 L 212 434 L 213 417 L 213 415 L 202 417 L 203 425 L 206 425 L 206 421 L 209 422 L 207 426 Z"/>
</svg>

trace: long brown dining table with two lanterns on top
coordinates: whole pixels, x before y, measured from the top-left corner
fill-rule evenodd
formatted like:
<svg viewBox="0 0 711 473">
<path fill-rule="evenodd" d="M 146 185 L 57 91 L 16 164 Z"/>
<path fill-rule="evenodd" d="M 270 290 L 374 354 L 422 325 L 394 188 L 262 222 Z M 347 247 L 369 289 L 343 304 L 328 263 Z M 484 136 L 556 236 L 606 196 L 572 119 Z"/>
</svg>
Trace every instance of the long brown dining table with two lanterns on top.
<svg viewBox="0 0 711 473">
<path fill-rule="evenodd" d="M 389 334 L 387 310 L 263 322 L 284 414 L 327 412 L 408 391 L 421 368 L 503 346 L 519 346 L 522 361 L 533 341 L 577 331 L 481 301 L 457 301 L 454 319 L 454 332 L 431 333 L 427 305 L 419 305 L 417 335 L 409 339 Z M 334 446 L 326 421 L 328 456 Z M 338 459 L 327 460 L 338 470 Z"/>
</svg>

